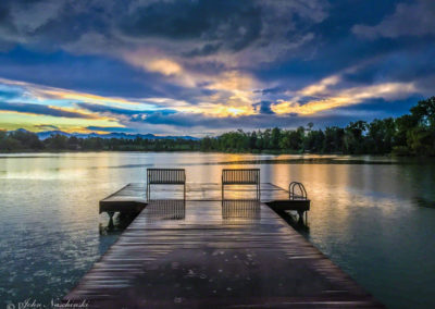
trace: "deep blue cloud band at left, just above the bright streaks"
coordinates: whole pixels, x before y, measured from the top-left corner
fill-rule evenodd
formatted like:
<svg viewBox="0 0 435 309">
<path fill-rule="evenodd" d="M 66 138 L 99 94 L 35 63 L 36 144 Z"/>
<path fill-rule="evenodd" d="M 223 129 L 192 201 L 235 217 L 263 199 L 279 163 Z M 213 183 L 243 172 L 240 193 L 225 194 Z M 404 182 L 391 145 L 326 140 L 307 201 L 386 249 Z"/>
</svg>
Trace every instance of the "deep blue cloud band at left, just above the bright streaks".
<svg viewBox="0 0 435 309">
<path fill-rule="evenodd" d="M 200 92 L 199 89 L 190 90 L 172 85 L 156 74 L 135 70 L 119 60 L 97 55 L 72 57 L 64 51 L 39 53 L 21 47 L 0 52 L 0 76 L 39 85 L 132 98 L 147 95 L 183 99 L 191 97 L 191 92 Z"/>
</svg>

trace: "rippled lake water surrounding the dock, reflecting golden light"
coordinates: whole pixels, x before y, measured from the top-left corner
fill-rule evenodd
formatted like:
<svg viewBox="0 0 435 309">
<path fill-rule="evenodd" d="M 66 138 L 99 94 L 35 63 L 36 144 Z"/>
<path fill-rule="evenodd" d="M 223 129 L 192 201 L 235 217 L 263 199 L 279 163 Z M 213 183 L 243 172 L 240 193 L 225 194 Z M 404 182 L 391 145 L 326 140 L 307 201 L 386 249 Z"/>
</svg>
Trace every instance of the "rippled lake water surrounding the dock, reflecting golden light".
<svg viewBox="0 0 435 309">
<path fill-rule="evenodd" d="M 388 307 L 435 308 L 434 161 L 199 152 L 0 156 L 0 306 L 74 287 L 117 237 L 100 235 L 98 201 L 159 166 L 188 182 L 251 166 L 262 182 L 302 182 L 314 246 Z"/>
</svg>

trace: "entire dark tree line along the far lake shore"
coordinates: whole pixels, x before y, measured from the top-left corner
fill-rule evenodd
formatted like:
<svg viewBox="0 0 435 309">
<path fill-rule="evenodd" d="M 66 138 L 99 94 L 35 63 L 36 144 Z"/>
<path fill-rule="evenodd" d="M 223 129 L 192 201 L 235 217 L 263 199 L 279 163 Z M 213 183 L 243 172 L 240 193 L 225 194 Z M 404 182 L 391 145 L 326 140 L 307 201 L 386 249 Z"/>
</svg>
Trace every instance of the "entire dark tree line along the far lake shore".
<svg viewBox="0 0 435 309">
<path fill-rule="evenodd" d="M 435 156 L 435 97 L 420 101 L 409 114 L 372 122 L 357 121 L 346 127 L 313 129 L 278 127 L 228 132 L 217 137 L 190 139 L 77 138 L 53 135 L 39 140 L 27 131 L 0 131 L 0 151 L 223 151 Z"/>
</svg>

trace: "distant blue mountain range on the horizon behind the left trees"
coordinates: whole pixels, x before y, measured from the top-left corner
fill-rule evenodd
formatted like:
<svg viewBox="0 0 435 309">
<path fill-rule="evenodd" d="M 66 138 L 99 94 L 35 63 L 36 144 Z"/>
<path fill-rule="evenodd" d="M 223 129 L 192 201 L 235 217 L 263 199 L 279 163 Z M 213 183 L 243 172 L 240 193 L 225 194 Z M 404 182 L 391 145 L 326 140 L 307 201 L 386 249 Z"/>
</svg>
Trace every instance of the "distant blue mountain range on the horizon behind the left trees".
<svg viewBox="0 0 435 309">
<path fill-rule="evenodd" d="M 17 131 L 26 131 L 24 128 L 18 128 Z M 125 139 L 136 139 L 137 137 L 141 137 L 144 139 L 190 139 L 190 140 L 198 140 L 199 138 L 194 136 L 159 136 L 153 135 L 151 133 L 148 134 L 127 134 L 127 133 L 108 133 L 108 134 L 98 134 L 98 133 L 66 133 L 63 131 L 44 131 L 36 133 L 39 139 L 44 140 L 49 138 L 51 135 L 64 135 L 64 136 L 75 136 L 77 138 L 88 138 L 88 137 L 101 137 L 101 138 L 125 138 Z"/>
</svg>

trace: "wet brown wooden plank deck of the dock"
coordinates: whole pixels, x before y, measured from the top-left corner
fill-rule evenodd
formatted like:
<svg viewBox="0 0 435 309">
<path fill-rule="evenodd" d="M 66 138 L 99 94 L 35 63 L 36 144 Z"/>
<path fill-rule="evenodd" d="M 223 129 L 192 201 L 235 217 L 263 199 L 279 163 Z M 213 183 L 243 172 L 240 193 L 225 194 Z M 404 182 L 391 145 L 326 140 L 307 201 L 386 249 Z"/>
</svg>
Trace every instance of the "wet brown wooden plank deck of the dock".
<svg viewBox="0 0 435 309">
<path fill-rule="evenodd" d="M 153 196 L 175 199 L 148 203 L 134 194 L 142 189 L 130 184 L 104 199 L 124 207 L 133 198 L 146 207 L 64 301 L 85 300 L 88 308 L 383 308 L 265 203 L 288 198 L 279 187 L 261 184 L 260 201 L 237 187 L 222 201 L 219 185 L 190 184 L 187 200 L 164 188 Z"/>
</svg>

